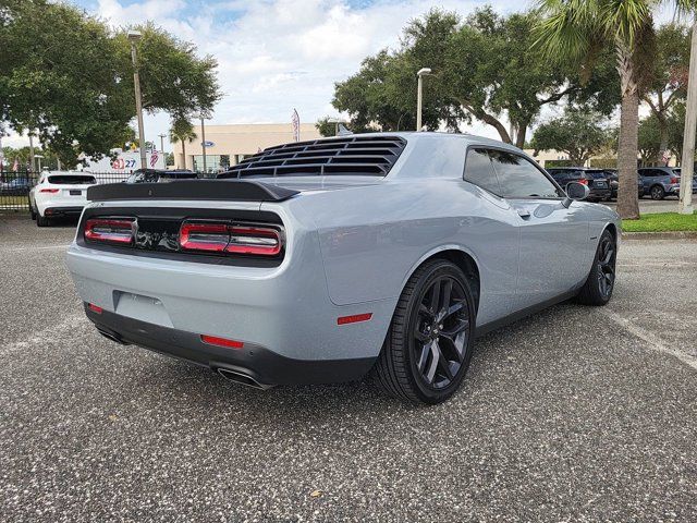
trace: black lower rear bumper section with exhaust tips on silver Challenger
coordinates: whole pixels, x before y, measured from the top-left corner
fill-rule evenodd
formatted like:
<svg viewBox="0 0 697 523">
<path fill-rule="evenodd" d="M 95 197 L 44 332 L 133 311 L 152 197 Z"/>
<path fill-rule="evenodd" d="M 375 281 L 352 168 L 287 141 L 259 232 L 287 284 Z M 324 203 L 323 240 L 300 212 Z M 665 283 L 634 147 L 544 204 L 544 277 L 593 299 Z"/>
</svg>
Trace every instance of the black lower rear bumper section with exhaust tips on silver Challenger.
<svg viewBox="0 0 697 523">
<path fill-rule="evenodd" d="M 87 317 L 107 338 L 136 344 L 169 356 L 209 367 L 223 376 L 249 378 L 248 385 L 266 388 L 274 385 L 327 384 L 359 379 L 375 357 L 347 360 L 295 360 L 255 343 L 224 348 L 205 343 L 200 335 L 140 321 L 85 304 Z M 240 380 L 242 381 L 242 380 Z"/>
</svg>

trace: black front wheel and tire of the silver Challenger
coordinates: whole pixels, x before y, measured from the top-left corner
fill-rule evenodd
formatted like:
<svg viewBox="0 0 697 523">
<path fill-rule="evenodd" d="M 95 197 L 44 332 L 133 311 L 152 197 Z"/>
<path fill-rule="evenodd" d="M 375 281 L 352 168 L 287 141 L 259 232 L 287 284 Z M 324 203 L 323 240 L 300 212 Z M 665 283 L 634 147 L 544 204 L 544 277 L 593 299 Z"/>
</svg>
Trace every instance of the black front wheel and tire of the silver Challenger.
<svg viewBox="0 0 697 523">
<path fill-rule="evenodd" d="M 617 242 L 606 230 L 598 242 L 588 279 L 576 296 L 578 303 L 594 306 L 608 304 L 614 289 L 616 258 Z"/>
</svg>

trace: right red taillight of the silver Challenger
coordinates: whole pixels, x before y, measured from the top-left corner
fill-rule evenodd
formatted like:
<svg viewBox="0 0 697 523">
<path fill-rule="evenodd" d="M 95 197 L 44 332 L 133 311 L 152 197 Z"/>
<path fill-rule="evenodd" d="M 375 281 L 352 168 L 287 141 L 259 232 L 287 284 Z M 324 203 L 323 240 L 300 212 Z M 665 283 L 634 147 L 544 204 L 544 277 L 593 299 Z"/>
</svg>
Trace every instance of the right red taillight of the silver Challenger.
<svg viewBox="0 0 697 523">
<path fill-rule="evenodd" d="M 281 233 L 270 227 L 185 221 L 179 233 L 185 251 L 276 256 L 281 252 Z"/>
</svg>

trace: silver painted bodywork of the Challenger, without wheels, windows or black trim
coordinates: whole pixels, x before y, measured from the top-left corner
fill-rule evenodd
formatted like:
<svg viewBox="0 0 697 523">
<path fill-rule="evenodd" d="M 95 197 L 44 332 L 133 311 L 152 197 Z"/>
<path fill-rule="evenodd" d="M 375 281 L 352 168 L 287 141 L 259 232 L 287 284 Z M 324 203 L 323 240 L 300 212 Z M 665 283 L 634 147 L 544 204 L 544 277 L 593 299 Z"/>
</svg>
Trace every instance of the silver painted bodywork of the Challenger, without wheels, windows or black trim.
<svg viewBox="0 0 697 523">
<path fill-rule="evenodd" d="M 477 324 L 486 326 L 578 289 L 603 229 L 620 231 L 616 214 L 601 205 L 505 199 L 463 180 L 468 146 L 529 159 L 515 147 L 469 135 L 396 134 L 407 144 L 386 178 L 257 179 L 302 192 L 284 202 L 90 204 L 106 214 L 111 206 L 272 211 L 284 224 L 286 251 L 279 267 L 258 268 L 145 258 L 73 242 L 68 266 L 77 292 L 117 314 L 288 357 L 376 357 L 406 281 L 439 252 L 462 252 L 476 263 Z M 133 296 L 159 305 L 150 313 L 148 302 L 120 305 Z M 337 325 L 339 316 L 363 313 L 372 318 Z"/>
</svg>

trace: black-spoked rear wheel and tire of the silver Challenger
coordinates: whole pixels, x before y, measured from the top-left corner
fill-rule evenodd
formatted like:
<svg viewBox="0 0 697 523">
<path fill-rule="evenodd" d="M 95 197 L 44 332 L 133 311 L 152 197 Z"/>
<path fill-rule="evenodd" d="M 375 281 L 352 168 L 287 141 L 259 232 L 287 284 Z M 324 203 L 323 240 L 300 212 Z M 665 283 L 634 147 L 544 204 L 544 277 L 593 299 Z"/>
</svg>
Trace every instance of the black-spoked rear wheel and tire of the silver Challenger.
<svg viewBox="0 0 697 523">
<path fill-rule="evenodd" d="M 425 263 L 398 302 L 374 368 L 378 384 L 413 403 L 448 400 L 467 373 L 475 319 L 473 294 L 463 271 L 444 259 Z"/>
</svg>

